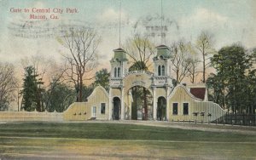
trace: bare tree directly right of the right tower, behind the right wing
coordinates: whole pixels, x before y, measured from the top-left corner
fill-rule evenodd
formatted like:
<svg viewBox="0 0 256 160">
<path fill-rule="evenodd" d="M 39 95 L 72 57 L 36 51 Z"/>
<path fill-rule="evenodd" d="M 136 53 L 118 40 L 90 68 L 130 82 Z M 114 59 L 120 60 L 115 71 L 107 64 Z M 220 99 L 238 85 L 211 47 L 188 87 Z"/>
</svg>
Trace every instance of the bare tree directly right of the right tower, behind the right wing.
<svg viewBox="0 0 256 160">
<path fill-rule="evenodd" d="M 175 73 L 177 83 L 181 83 L 183 78 L 188 76 L 191 67 L 191 59 L 189 58 L 189 43 L 180 40 L 172 43 L 172 70 Z"/>
</svg>

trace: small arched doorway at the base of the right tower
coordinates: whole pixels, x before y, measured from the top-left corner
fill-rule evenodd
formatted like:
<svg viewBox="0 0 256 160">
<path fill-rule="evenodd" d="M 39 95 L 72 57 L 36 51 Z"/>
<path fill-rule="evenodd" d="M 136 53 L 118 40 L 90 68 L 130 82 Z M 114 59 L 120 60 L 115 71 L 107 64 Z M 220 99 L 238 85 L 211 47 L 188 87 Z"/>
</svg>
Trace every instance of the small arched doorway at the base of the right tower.
<svg viewBox="0 0 256 160">
<path fill-rule="evenodd" d="M 159 97 L 157 100 L 157 120 L 166 121 L 166 98 Z"/>
</svg>

